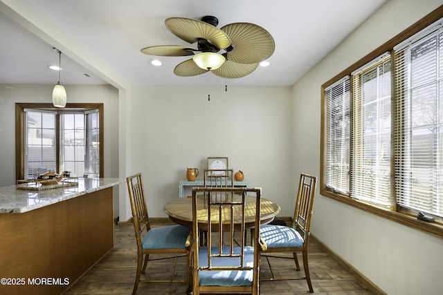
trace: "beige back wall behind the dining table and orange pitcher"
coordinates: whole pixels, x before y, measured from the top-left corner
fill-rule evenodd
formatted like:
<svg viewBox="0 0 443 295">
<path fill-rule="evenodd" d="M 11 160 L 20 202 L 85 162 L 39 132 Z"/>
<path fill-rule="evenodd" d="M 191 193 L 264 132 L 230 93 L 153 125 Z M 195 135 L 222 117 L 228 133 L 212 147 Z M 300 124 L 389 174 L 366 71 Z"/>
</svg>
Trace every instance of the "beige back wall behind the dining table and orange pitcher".
<svg viewBox="0 0 443 295">
<path fill-rule="evenodd" d="M 290 87 L 213 86 L 208 101 L 208 86 L 133 86 L 131 108 L 128 173 L 143 173 L 150 216 L 166 217 L 186 167 L 203 171 L 206 158 L 224 156 L 291 215 Z"/>
</svg>

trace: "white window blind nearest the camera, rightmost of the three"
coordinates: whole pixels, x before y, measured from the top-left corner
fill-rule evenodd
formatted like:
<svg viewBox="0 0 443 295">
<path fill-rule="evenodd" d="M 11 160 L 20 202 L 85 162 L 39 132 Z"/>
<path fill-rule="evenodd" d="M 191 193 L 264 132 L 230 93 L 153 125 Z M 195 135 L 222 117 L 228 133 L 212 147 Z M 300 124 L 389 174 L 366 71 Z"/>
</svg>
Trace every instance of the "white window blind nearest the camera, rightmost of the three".
<svg viewBox="0 0 443 295">
<path fill-rule="evenodd" d="M 395 51 L 395 190 L 401 207 L 443 216 L 443 35 Z"/>
</svg>

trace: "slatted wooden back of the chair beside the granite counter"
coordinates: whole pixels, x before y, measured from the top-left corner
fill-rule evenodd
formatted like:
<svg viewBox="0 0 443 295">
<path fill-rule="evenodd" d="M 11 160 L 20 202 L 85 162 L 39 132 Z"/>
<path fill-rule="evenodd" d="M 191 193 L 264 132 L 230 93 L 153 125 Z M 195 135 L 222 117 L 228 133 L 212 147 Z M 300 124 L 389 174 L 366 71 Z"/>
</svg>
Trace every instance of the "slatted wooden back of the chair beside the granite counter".
<svg viewBox="0 0 443 295">
<path fill-rule="evenodd" d="M 132 219 L 136 231 L 136 240 L 141 249 L 143 231 L 151 229 L 150 218 L 147 215 L 147 204 L 145 198 L 145 189 L 141 173 L 127 177 L 127 187 L 129 191 L 129 200 L 131 201 Z"/>
</svg>

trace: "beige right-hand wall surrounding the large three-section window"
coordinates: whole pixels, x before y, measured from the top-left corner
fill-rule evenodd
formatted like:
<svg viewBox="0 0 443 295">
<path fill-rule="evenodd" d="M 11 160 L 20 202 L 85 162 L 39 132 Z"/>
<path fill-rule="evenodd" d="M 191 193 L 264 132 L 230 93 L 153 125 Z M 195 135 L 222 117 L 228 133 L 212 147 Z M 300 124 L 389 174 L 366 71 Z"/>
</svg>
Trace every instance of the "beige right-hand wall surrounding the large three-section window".
<svg viewBox="0 0 443 295">
<path fill-rule="evenodd" d="M 295 175 L 301 171 L 320 175 L 321 84 L 442 4 L 388 1 L 293 86 Z M 442 238 L 323 196 L 315 201 L 312 232 L 387 294 L 442 292 Z"/>
</svg>

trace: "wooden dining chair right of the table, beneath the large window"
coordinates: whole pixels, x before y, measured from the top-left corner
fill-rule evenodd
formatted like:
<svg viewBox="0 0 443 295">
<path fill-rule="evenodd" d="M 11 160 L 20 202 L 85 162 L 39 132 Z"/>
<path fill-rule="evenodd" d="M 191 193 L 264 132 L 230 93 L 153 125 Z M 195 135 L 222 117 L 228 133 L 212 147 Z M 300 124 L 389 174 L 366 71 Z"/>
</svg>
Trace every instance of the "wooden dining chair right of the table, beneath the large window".
<svg viewBox="0 0 443 295">
<path fill-rule="evenodd" d="M 307 245 L 309 236 L 311 234 L 311 217 L 314 207 L 314 196 L 316 191 L 316 176 L 302 173 L 300 175 L 300 182 L 298 184 L 298 193 L 296 198 L 296 209 L 293 215 L 291 227 L 283 225 L 262 225 L 260 227 L 260 234 L 266 242 L 267 249 L 264 255 L 271 269 L 271 278 L 262 278 L 262 280 L 298 280 L 306 279 L 309 287 L 309 292 L 313 293 L 311 277 L 309 276 Z M 305 276 L 295 277 L 278 277 L 273 274 L 269 258 L 288 258 L 284 256 L 270 256 L 267 253 L 283 253 L 290 252 L 293 254 L 291 259 L 295 260 L 296 269 L 300 271 L 298 264 L 297 252 L 302 252 L 303 267 L 305 269 Z"/>
</svg>

